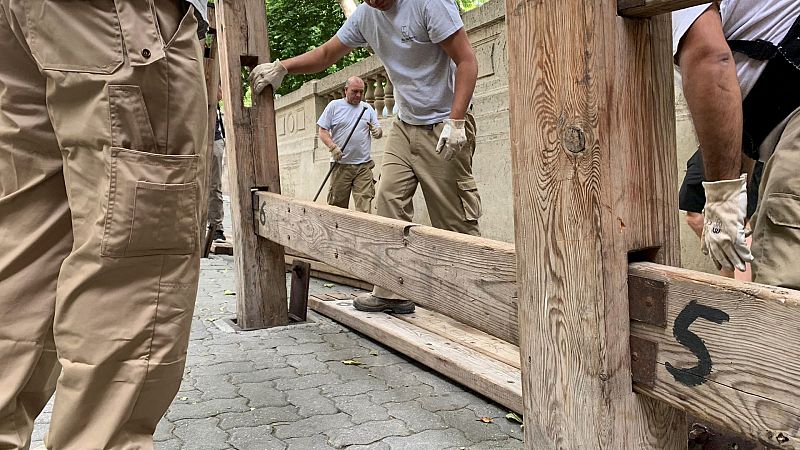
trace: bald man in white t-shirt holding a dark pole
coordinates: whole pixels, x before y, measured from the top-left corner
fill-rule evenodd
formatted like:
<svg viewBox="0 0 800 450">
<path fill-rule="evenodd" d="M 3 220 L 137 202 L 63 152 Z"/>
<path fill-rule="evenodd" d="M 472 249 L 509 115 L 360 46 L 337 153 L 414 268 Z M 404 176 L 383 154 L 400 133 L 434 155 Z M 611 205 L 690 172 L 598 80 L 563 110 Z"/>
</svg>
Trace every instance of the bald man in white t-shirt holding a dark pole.
<svg viewBox="0 0 800 450">
<path fill-rule="evenodd" d="M 364 80 L 359 77 L 348 78 L 344 85 L 344 98 L 328 103 L 317 125 L 319 138 L 331 152 L 331 164 L 335 164 L 331 172 L 328 204 L 347 208 L 352 192 L 355 209 L 370 213 L 372 199 L 375 198 L 372 138 L 380 139 L 383 130 L 372 106 L 361 101 L 363 97 Z M 364 108 L 367 110 L 362 115 Z M 345 147 L 344 143 L 354 126 L 353 135 Z"/>
</svg>

